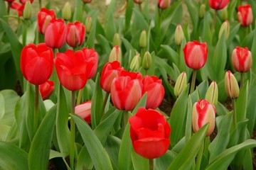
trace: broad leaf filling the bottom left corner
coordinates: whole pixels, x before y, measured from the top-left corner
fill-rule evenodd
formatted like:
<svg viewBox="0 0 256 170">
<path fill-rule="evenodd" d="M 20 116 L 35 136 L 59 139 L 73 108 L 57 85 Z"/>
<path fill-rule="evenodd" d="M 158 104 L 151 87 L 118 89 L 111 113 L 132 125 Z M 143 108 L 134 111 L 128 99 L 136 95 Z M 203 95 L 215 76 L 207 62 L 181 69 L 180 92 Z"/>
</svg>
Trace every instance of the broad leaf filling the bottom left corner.
<svg viewBox="0 0 256 170">
<path fill-rule="evenodd" d="M 11 143 L 0 141 L 0 169 L 28 169 L 28 154 Z"/>
</svg>

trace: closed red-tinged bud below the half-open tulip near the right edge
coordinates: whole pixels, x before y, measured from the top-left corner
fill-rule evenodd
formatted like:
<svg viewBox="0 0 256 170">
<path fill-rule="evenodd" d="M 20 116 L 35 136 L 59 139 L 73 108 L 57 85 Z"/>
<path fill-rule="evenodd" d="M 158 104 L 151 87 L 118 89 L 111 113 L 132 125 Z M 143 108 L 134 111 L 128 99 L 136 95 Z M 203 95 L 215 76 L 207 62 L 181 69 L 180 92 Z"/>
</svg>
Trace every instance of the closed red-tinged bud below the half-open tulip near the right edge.
<svg viewBox="0 0 256 170">
<path fill-rule="evenodd" d="M 238 98 L 239 96 L 238 81 L 230 71 L 225 73 L 225 91 L 230 98 Z"/>
</svg>

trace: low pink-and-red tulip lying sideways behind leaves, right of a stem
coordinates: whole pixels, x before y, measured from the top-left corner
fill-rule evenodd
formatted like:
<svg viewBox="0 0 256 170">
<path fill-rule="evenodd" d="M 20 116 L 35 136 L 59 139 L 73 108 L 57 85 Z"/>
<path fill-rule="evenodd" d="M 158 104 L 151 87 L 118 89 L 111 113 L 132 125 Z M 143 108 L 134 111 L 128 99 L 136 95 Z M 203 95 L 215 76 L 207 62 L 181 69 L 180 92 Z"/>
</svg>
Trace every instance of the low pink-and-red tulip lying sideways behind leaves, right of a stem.
<svg viewBox="0 0 256 170">
<path fill-rule="evenodd" d="M 75 106 L 75 114 L 80 115 L 80 117 L 85 120 L 88 124 L 91 123 L 91 108 L 92 101 L 85 101 L 84 103 Z"/>
</svg>

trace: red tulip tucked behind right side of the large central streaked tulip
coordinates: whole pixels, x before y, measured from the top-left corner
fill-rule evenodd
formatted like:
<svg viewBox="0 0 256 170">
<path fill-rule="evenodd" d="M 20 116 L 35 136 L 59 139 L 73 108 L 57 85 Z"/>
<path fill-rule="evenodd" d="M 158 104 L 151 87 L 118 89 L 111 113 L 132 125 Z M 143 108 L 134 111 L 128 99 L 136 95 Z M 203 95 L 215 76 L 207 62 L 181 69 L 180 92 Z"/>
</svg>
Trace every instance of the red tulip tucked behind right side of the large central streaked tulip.
<svg viewBox="0 0 256 170">
<path fill-rule="evenodd" d="M 146 96 L 146 108 L 157 108 L 164 98 L 164 86 L 161 79 L 146 75 L 143 80 L 143 94 L 147 92 Z"/>
</svg>

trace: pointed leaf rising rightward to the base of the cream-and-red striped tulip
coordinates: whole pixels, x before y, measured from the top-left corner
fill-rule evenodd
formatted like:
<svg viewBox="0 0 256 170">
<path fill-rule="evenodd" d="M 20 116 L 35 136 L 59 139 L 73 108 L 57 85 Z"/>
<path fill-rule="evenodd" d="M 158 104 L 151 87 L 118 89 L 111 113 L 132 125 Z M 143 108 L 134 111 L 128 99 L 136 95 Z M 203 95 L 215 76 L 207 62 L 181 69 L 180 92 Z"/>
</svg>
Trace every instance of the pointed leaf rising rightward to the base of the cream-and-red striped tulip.
<svg viewBox="0 0 256 170">
<path fill-rule="evenodd" d="M 168 169 L 190 169 L 191 162 L 194 162 L 196 158 L 196 154 L 198 154 L 199 149 L 203 145 L 204 139 L 206 137 L 206 132 L 208 130 L 208 126 L 204 125 L 203 128 L 198 130 L 188 143 L 183 147 L 181 152 L 177 155 L 173 162 L 171 162 Z"/>
</svg>

